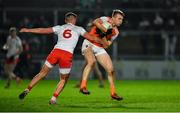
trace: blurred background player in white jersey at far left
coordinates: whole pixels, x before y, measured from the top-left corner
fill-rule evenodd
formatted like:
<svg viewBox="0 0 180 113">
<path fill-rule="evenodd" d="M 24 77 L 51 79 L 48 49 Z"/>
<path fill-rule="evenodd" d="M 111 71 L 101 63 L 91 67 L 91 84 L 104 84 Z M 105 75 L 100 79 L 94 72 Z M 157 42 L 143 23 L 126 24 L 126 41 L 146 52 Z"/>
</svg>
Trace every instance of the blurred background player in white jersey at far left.
<svg viewBox="0 0 180 113">
<path fill-rule="evenodd" d="M 14 69 L 19 61 L 19 55 L 23 51 L 21 39 L 17 36 L 17 31 L 15 27 L 9 29 L 9 36 L 7 38 L 6 44 L 3 49 L 7 50 L 6 61 L 4 65 L 5 74 L 8 77 L 5 88 L 10 87 L 12 79 L 16 79 L 18 83 L 20 78 L 14 74 Z"/>
</svg>

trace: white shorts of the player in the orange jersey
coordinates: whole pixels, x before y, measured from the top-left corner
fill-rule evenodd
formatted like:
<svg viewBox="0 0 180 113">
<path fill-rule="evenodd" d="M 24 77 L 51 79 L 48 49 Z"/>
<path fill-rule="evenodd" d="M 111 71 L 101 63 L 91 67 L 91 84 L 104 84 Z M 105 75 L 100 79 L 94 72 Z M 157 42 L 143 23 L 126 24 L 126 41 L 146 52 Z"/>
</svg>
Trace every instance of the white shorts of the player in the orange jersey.
<svg viewBox="0 0 180 113">
<path fill-rule="evenodd" d="M 85 39 L 85 40 L 83 41 L 82 49 L 81 49 L 82 55 L 84 55 L 84 50 L 87 49 L 88 47 L 91 47 L 91 48 L 92 48 L 93 53 L 94 53 L 95 56 L 98 56 L 98 55 L 104 54 L 104 53 L 107 54 L 107 52 L 106 52 L 106 50 L 105 50 L 104 48 L 98 47 L 98 46 L 92 44 L 91 42 L 89 42 L 88 40 Z"/>
</svg>

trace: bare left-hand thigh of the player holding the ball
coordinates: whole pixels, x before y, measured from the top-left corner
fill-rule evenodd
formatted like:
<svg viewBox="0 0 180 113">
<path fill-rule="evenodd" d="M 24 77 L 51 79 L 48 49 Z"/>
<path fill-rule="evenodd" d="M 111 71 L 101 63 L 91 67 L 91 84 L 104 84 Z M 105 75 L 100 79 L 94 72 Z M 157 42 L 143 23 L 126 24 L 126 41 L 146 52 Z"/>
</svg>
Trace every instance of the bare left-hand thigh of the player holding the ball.
<svg viewBox="0 0 180 113">
<path fill-rule="evenodd" d="M 87 63 L 95 63 L 96 62 L 96 58 L 94 56 L 93 50 L 91 47 L 86 48 L 84 51 L 84 58 L 86 60 Z"/>
</svg>

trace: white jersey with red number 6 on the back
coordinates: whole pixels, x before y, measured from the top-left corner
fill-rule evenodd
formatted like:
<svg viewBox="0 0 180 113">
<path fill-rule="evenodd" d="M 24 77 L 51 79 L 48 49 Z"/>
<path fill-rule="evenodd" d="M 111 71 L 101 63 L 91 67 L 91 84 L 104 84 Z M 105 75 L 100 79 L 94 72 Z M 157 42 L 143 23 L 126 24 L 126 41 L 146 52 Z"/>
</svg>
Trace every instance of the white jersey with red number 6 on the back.
<svg viewBox="0 0 180 113">
<path fill-rule="evenodd" d="M 54 49 L 65 50 L 72 54 L 78 42 L 79 36 L 83 36 L 86 32 L 84 28 L 71 23 L 67 23 L 62 26 L 54 26 L 53 31 L 58 35 L 58 41 L 54 46 Z"/>
</svg>

